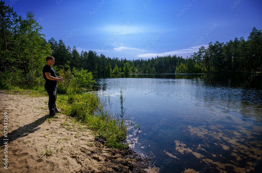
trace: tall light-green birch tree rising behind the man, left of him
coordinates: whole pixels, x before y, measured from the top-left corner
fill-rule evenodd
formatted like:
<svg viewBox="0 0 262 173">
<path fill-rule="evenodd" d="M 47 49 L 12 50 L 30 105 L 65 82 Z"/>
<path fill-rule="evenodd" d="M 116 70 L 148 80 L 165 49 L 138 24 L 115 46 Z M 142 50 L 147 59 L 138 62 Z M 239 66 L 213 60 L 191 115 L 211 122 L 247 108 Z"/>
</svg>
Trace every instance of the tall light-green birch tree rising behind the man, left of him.
<svg viewBox="0 0 262 173">
<path fill-rule="evenodd" d="M 45 57 L 51 53 L 50 45 L 45 44 L 45 35 L 41 33 L 42 26 L 34 19 L 32 11 L 26 13 L 26 19 L 21 20 L 19 35 L 17 40 L 19 46 L 16 47 L 18 57 L 27 62 L 25 73 L 31 73 L 31 82 L 34 84 L 34 71 L 41 71 L 46 64 Z"/>
</svg>

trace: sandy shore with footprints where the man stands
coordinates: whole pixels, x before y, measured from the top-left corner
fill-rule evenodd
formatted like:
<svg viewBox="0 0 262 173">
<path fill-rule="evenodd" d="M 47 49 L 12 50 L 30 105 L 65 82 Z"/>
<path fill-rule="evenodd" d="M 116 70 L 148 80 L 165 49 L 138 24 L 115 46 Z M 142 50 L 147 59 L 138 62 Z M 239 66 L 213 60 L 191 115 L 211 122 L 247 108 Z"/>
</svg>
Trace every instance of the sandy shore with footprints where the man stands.
<svg viewBox="0 0 262 173">
<path fill-rule="evenodd" d="M 12 93 L 0 90 L 0 172 L 150 172 L 146 169 L 149 158 L 131 149 L 123 152 L 103 146 L 92 131 L 79 130 L 80 125 L 67 116 L 58 114 L 59 118 L 48 121 L 48 97 Z M 4 112 L 7 137 L 3 136 Z"/>
</svg>

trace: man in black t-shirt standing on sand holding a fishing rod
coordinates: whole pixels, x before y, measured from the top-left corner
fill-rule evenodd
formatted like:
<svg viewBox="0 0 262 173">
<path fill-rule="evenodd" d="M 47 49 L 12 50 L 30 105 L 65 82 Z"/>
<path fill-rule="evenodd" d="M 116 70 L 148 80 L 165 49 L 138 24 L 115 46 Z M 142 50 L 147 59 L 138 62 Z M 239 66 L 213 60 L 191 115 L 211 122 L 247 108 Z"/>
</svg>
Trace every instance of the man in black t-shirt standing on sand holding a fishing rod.
<svg viewBox="0 0 262 173">
<path fill-rule="evenodd" d="M 56 113 L 60 111 L 56 108 L 56 91 L 57 91 L 57 80 L 60 82 L 63 80 L 62 77 L 56 76 L 56 72 L 52 68 L 54 65 L 54 57 L 47 56 L 46 57 L 46 65 L 43 67 L 43 75 L 46 80 L 45 89 L 48 93 L 49 101 L 48 101 L 48 108 L 49 108 L 49 116 L 51 118 L 57 118 L 58 116 Z"/>
</svg>

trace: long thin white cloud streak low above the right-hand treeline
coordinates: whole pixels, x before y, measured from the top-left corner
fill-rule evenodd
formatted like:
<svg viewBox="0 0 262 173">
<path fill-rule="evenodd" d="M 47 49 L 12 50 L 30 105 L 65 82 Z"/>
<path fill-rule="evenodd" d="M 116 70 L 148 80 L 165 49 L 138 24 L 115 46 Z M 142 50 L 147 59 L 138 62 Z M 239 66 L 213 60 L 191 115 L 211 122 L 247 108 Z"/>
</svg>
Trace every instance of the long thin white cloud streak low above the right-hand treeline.
<svg viewBox="0 0 262 173">
<path fill-rule="evenodd" d="M 143 55 L 138 55 L 138 57 L 151 58 L 151 57 L 156 57 L 157 55 L 158 56 L 177 55 L 183 57 L 187 57 L 187 56 L 190 57 L 190 55 L 193 55 L 194 52 L 198 52 L 201 46 L 204 46 L 206 48 L 208 47 L 208 45 L 199 45 L 187 49 L 174 50 L 171 52 L 143 54 Z"/>
</svg>

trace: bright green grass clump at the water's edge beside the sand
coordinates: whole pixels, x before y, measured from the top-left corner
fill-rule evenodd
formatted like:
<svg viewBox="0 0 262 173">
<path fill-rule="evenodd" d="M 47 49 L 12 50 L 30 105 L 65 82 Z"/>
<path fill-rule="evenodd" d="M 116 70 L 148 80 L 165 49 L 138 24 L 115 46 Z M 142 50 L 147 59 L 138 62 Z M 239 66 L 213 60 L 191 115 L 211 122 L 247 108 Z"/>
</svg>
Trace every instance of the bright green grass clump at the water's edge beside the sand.
<svg viewBox="0 0 262 173">
<path fill-rule="evenodd" d="M 89 129 L 94 131 L 96 137 L 105 139 L 106 146 L 126 147 L 122 144 L 127 136 L 124 120 L 113 118 L 108 111 L 105 111 L 100 97 L 91 93 L 69 95 L 67 102 L 69 106 L 65 113 L 88 126 Z"/>
</svg>

